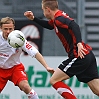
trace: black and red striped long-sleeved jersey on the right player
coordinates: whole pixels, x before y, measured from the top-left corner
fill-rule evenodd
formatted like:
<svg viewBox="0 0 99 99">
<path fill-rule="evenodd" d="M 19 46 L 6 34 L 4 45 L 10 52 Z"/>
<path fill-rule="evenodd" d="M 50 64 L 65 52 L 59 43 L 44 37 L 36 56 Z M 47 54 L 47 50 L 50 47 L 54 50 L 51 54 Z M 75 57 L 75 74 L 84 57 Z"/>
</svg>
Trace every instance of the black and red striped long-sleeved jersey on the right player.
<svg viewBox="0 0 99 99">
<path fill-rule="evenodd" d="M 59 10 L 55 14 L 54 20 L 46 21 L 34 18 L 34 21 L 44 28 L 55 29 L 56 35 L 62 42 L 68 56 L 78 57 L 77 44 L 82 42 L 82 38 L 80 28 L 74 19 Z M 82 44 L 86 49 L 91 49 L 90 46 L 84 44 L 83 42 Z M 86 54 L 87 53 L 88 52 L 86 52 Z"/>
</svg>

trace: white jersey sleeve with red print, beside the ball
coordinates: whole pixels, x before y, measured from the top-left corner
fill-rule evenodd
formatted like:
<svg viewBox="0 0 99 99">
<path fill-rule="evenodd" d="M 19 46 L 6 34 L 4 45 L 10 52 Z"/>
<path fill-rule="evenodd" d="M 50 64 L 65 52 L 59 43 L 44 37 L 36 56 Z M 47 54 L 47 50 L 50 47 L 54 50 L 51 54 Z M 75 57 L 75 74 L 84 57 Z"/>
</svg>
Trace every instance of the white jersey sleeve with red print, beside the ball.
<svg viewBox="0 0 99 99">
<path fill-rule="evenodd" d="M 27 40 L 25 40 L 22 49 L 32 57 L 35 57 L 36 53 L 38 52 L 38 50 L 33 45 L 31 45 Z"/>
</svg>

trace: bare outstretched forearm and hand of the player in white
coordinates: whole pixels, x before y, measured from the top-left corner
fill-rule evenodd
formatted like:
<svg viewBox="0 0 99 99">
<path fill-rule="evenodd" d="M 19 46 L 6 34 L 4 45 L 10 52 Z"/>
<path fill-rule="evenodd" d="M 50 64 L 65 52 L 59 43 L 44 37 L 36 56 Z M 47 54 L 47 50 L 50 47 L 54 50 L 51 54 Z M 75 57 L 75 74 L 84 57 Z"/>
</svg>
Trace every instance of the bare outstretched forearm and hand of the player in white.
<svg viewBox="0 0 99 99">
<path fill-rule="evenodd" d="M 54 73 L 54 69 L 47 65 L 44 57 L 39 52 L 36 53 L 35 58 L 46 68 L 48 72 L 52 74 Z"/>
</svg>

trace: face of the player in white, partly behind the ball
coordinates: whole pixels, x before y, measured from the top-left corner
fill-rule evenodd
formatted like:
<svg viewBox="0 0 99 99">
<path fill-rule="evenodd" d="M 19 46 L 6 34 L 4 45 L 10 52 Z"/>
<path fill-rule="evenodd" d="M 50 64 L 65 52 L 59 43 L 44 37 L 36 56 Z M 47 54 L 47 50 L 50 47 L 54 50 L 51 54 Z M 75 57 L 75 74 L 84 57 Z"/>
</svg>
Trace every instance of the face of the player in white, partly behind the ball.
<svg viewBox="0 0 99 99">
<path fill-rule="evenodd" d="M 10 32 L 14 30 L 14 24 L 11 22 L 9 24 L 2 24 L 1 31 L 3 32 L 4 39 L 8 38 Z"/>
</svg>

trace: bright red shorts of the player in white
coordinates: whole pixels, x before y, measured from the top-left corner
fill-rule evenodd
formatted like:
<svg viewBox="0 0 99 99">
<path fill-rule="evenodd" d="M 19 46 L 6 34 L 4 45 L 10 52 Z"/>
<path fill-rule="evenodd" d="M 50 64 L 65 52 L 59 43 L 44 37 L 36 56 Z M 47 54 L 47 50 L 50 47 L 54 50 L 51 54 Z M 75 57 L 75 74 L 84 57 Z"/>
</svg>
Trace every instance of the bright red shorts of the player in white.
<svg viewBox="0 0 99 99">
<path fill-rule="evenodd" d="M 23 64 L 15 65 L 10 69 L 0 68 L 0 92 L 8 80 L 12 81 L 16 86 L 19 85 L 20 81 L 28 80 Z"/>
</svg>

